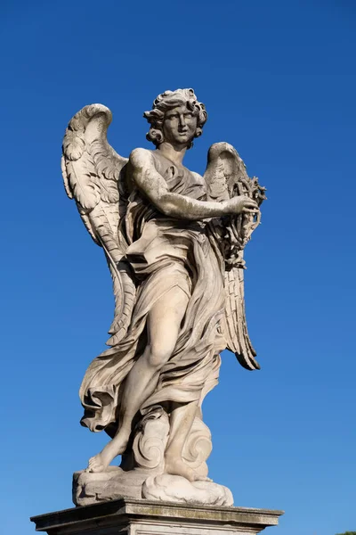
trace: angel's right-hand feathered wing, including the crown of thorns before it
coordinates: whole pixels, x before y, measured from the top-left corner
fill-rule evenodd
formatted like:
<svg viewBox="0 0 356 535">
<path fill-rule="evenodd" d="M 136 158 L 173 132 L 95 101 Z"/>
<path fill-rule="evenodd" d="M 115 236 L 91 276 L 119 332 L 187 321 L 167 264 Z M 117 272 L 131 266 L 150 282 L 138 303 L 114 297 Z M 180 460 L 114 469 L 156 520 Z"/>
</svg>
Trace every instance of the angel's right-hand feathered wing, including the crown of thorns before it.
<svg viewBox="0 0 356 535">
<path fill-rule="evenodd" d="M 209 199 L 226 201 L 235 195 L 247 195 L 260 205 L 265 199 L 264 188 L 256 177 L 247 175 L 244 162 L 238 152 L 227 143 L 210 147 L 204 175 Z M 247 331 L 244 296 L 243 253 L 260 218 L 252 214 L 228 216 L 212 222 L 225 259 L 225 321 L 226 347 L 235 353 L 241 366 L 248 370 L 259 369 L 256 352 Z"/>
</svg>

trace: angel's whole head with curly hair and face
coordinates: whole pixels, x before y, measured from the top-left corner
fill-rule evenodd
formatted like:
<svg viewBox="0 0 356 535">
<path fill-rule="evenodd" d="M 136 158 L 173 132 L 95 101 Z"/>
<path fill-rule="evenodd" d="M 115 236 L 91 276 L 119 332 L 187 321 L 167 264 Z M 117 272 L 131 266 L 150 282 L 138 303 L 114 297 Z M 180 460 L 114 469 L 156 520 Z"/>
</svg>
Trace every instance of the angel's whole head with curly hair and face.
<svg viewBox="0 0 356 535">
<path fill-rule="evenodd" d="M 150 123 L 147 139 L 158 146 L 164 141 L 174 145 L 193 146 L 206 123 L 206 107 L 199 103 L 193 89 L 165 91 L 155 99 L 151 111 L 143 116 Z"/>
</svg>

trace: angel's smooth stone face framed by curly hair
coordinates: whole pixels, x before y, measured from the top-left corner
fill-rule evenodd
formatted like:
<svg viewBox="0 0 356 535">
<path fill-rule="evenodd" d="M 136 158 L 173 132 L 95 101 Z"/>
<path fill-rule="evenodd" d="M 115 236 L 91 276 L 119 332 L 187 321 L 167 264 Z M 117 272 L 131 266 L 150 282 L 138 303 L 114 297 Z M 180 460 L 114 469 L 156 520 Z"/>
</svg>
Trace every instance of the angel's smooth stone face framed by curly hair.
<svg viewBox="0 0 356 535">
<path fill-rule="evenodd" d="M 197 116 L 186 105 L 166 111 L 163 136 L 171 144 L 189 145 L 197 131 Z"/>
</svg>

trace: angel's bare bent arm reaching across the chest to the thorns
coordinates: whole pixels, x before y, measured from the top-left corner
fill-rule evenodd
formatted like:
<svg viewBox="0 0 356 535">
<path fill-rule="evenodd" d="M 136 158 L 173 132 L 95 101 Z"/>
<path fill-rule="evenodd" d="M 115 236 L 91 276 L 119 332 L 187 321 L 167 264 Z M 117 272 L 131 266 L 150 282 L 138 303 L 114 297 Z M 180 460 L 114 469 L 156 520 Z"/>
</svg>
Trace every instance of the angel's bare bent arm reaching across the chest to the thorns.
<svg viewBox="0 0 356 535">
<path fill-rule="evenodd" d="M 134 149 L 130 155 L 130 165 L 134 184 L 166 216 L 193 220 L 218 218 L 239 213 L 249 201 L 246 197 L 234 197 L 225 202 L 197 201 L 169 192 L 166 180 L 158 173 L 153 156 L 146 149 Z M 238 202 L 238 199 L 241 201 Z"/>
</svg>

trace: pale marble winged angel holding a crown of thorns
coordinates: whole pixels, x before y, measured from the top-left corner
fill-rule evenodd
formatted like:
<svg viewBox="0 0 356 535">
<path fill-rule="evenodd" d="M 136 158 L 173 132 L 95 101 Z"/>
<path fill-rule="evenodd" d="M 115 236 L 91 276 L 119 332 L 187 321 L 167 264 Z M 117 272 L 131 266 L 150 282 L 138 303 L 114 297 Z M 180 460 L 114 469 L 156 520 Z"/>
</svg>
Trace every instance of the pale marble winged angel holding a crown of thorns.
<svg viewBox="0 0 356 535">
<path fill-rule="evenodd" d="M 201 404 L 217 383 L 220 352 L 259 367 L 247 333 L 243 251 L 264 188 L 230 144 L 210 148 L 204 177 L 184 167 L 207 118 L 192 89 L 158 95 L 144 117 L 155 150 L 134 149 L 129 159 L 109 145 L 111 112 L 101 104 L 78 111 L 63 141 L 66 192 L 104 251 L 115 293 L 109 350 L 93 359 L 80 388 L 81 424 L 110 441 L 85 473 L 108 472 L 121 454 L 125 473 L 143 467 L 210 481 Z M 161 443 L 157 461 L 144 440 L 155 421 L 164 429 L 150 436 Z"/>
</svg>

